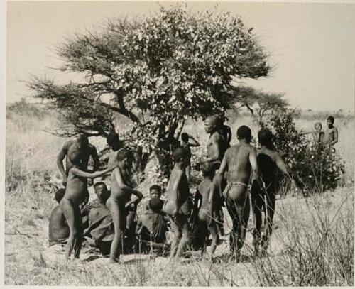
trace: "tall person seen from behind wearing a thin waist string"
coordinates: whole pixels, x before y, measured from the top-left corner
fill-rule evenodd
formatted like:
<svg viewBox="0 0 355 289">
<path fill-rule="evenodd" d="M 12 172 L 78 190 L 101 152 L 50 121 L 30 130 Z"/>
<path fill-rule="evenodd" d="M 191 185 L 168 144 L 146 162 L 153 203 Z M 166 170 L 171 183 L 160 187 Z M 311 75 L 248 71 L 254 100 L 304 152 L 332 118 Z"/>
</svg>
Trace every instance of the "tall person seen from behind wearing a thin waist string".
<svg viewBox="0 0 355 289">
<path fill-rule="evenodd" d="M 226 151 L 219 168 L 219 174 L 223 174 L 225 170 L 228 170 L 227 185 L 223 195 L 233 222 L 229 237 L 231 255 L 236 260 L 239 260 L 250 213 L 249 180 L 259 180 L 259 178 L 256 151 L 249 144 L 251 141 L 251 129 L 248 126 L 240 126 L 236 131 L 236 136 L 239 143 L 236 146 L 231 146 Z"/>
</svg>

